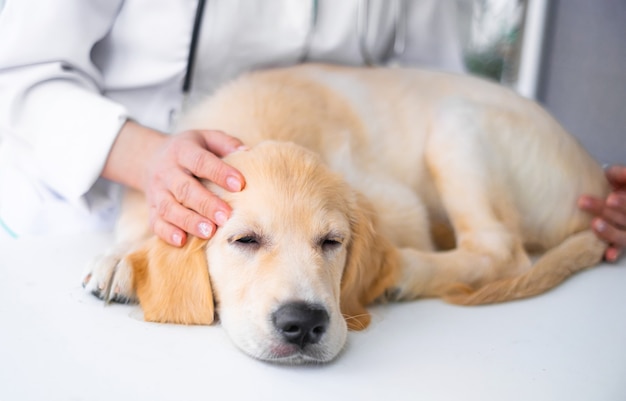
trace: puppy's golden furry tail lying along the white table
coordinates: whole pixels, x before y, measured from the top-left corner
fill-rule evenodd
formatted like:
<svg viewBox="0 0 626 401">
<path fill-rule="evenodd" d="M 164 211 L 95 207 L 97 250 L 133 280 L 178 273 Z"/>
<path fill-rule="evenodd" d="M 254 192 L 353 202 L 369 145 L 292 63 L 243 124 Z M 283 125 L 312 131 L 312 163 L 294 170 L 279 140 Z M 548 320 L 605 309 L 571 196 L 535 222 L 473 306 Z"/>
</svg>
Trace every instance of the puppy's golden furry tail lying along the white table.
<svg viewBox="0 0 626 401">
<path fill-rule="evenodd" d="M 496 280 L 478 289 L 457 284 L 443 298 L 457 305 L 482 305 L 539 295 L 572 274 L 598 264 L 605 249 L 606 244 L 592 231 L 579 232 L 546 252 L 520 276 Z"/>
</svg>

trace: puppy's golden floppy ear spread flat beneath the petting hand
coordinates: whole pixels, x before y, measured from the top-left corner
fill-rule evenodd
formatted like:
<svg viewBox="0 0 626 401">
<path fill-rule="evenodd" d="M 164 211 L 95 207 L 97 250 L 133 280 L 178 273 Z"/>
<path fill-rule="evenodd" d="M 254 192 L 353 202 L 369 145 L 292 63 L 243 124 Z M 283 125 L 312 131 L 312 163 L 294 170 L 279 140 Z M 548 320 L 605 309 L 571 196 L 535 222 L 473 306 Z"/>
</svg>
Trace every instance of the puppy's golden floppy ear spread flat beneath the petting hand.
<svg viewBox="0 0 626 401">
<path fill-rule="evenodd" d="M 185 246 L 176 248 L 154 237 L 127 257 L 145 320 L 213 322 L 215 311 L 205 244 L 206 240 L 190 237 Z"/>
</svg>

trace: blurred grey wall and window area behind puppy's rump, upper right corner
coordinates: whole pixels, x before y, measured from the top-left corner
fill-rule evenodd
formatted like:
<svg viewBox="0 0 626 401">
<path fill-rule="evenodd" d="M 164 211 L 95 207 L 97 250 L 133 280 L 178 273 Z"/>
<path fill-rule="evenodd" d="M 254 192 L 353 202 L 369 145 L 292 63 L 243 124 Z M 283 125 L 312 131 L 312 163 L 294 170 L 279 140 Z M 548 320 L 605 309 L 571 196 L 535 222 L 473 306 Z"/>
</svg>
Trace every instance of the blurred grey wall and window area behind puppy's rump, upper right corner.
<svg viewBox="0 0 626 401">
<path fill-rule="evenodd" d="M 456 1 L 470 71 L 536 98 L 601 163 L 626 164 L 625 0 Z"/>
</svg>

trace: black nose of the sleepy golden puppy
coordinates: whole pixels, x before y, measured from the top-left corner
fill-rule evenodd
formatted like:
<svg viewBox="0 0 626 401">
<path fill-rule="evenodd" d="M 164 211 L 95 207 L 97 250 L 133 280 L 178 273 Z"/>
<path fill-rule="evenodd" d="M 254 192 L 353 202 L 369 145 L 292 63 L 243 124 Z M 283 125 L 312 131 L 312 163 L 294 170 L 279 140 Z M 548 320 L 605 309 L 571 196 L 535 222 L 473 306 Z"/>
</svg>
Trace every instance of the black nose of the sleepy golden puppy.
<svg viewBox="0 0 626 401">
<path fill-rule="evenodd" d="M 305 302 L 285 304 L 272 314 L 276 330 L 287 342 L 300 348 L 319 342 L 329 320 L 323 307 Z"/>
</svg>

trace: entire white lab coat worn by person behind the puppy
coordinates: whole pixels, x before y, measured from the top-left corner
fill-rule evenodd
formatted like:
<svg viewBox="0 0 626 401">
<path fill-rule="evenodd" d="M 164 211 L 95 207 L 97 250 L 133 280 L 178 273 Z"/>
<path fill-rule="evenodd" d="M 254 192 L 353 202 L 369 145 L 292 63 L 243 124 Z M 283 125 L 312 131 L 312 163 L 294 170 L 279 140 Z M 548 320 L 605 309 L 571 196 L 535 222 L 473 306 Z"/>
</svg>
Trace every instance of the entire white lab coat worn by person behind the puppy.
<svg viewBox="0 0 626 401">
<path fill-rule="evenodd" d="M 6 1 L 4 235 L 110 228 L 120 189 L 100 172 L 126 119 L 170 130 L 183 105 L 196 7 L 197 0 Z M 462 71 L 455 7 L 456 0 L 208 1 L 190 99 L 246 70 L 302 61 Z"/>
</svg>

